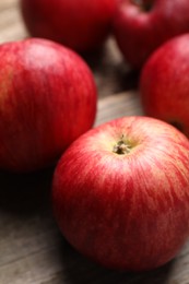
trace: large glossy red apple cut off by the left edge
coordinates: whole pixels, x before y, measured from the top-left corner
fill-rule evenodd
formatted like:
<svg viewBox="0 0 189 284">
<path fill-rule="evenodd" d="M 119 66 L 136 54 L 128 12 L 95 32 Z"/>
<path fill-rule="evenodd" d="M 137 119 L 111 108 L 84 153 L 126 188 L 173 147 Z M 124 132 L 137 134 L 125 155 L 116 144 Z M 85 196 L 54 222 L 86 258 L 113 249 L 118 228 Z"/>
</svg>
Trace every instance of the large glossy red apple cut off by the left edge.
<svg viewBox="0 0 189 284">
<path fill-rule="evenodd" d="M 93 126 L 96 98 L 93 74 L 72 50 L 39 38 L 0 45 L 0 168 L 55 163 Z"/>
</svg>

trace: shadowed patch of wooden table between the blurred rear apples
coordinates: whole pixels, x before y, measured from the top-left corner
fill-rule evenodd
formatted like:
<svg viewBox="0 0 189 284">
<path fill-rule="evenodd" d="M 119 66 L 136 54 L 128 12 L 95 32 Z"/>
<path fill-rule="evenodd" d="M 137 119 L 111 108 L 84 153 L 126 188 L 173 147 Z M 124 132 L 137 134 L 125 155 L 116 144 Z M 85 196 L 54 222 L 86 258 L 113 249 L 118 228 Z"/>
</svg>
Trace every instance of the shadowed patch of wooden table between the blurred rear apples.
<svg viewBox="0 0 189 284">
<path fill-rule="evenodd" d="M 140 71 L 132 70 L 110 38 L 99 49 L 81 55 L 92 69 L 101 95 L 135 90 Z M 101 74 L 101 75 L 99 75 Z"/>
</svg>

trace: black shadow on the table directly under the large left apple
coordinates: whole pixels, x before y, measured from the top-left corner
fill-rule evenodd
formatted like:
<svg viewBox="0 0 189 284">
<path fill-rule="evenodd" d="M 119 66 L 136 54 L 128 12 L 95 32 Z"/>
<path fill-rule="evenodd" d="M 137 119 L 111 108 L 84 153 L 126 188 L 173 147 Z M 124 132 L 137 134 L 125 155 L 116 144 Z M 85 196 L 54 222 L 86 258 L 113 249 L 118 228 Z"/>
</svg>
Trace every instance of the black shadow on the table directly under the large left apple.
<svg viewBox="0 0 189 284">
<path fill-rule="evenodd" d="M 15 174 L 0 170 L 0 210 L 33 214 L 48 208 L 54 168 Z"/>
</svg>

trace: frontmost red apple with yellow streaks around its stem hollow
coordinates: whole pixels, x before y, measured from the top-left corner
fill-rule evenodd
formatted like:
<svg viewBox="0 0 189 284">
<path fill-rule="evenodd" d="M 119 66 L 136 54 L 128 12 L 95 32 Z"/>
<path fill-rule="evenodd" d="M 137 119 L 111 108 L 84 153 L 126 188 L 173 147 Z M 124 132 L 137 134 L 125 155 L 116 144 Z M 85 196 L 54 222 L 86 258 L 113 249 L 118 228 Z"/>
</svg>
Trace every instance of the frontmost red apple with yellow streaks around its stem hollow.
<svg viewBox="0 0 189 284">
<path fill-rule="evenodd" d="M 114 152 L 120 141 L 128 153 Z M 189 236 L 188 161 L 189 140 L 154 118 L 126 117 L 87 131 L 55 170 L 52 208 L 60 230 L 107 268 L 163 265 Z"/>
</svg>

